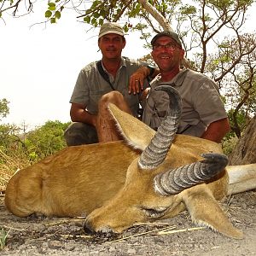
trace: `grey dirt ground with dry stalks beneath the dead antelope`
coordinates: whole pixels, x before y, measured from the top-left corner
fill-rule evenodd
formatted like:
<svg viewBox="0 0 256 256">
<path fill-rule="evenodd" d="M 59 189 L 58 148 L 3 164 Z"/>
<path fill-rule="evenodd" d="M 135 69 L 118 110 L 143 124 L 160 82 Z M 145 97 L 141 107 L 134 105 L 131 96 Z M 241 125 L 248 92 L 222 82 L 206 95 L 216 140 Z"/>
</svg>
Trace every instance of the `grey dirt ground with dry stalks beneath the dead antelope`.
<svg viewBox="0 0 256 256">
<path fill-rule="evenodd" d="M 256 190 L 222 202 L 231 222 L 244 232 L 235 240 L 195 229 L 188 212 L 176 218 L 132 227 L 118 236 L 90 236 L 83 219 L 17 218 L 0 197 L 0 230 L 9 231 L 1 255 L 256 255 Z M 124 217 L 125 218 L 125 217 Z M 161 235 L 169 228 L 171 234 Z"/>
</svg>

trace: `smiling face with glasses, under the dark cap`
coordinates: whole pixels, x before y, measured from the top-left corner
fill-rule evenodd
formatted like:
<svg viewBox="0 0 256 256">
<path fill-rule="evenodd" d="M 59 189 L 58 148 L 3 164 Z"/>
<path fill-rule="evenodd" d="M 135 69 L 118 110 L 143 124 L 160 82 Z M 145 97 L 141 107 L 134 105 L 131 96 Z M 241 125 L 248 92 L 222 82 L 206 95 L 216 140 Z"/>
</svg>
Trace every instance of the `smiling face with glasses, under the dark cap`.
<svg viewBox="0 0 256 256">
<path fill-rule="evenodd" d="M 151 55 L 160 71 L 168 72 L 179 68 L 184 50 L 172 38 L 163 36 L 155 41 Z"/>
</svg>

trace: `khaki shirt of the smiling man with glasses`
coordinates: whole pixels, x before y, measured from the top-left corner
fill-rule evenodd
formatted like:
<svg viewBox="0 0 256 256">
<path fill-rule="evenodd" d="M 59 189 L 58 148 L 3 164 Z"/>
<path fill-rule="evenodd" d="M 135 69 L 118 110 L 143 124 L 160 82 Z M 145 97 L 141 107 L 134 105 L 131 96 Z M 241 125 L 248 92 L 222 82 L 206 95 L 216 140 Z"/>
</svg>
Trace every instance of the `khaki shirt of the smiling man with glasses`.
<svg viewBox="0 0 256 256">
<path fill-rule="evenodd" d="M 161 84 L 173 86 L 182 97 L 183 109 L 177 133 L 201 137 L 207 125 L 227 117 L 218 85 L 206 75 L 184 68 L 169 82 L 161 83 L 160 75 L 151 82 L 143 122 L 154 130 L 165 119 L 169 108 L 166 92 L 154 90 Z"/>
</svg>

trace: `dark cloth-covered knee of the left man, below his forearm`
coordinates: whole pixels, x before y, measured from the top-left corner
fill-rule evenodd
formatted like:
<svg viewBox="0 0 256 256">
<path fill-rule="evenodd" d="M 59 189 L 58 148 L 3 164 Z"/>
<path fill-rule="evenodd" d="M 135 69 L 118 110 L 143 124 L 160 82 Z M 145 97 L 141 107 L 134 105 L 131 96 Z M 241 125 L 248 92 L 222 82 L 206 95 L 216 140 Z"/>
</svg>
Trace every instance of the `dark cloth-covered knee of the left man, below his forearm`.
<svg viewBox="0 0 256 256">
<path fill-rule="evenodd" d="M 98 143 L 97 132 L 94 126 L 75 122 L 64 132 L 67 146 Z"/>
</svg>

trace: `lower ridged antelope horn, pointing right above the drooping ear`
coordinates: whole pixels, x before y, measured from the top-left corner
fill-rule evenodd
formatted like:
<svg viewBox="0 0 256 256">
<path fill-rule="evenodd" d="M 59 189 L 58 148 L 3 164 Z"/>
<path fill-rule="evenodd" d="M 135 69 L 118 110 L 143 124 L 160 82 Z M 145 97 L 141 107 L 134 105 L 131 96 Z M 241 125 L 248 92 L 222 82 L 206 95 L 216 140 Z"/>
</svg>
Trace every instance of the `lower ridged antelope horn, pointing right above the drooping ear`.
<svg viewBox="0 0 256 256">
<path fill-rule="evenodd" d="M 202 154 L 204 160 L 162 172 L 154 177 L 154 190 L 160 195 L 176 195 L 203 183 L 221 172 L 228 164 L 224 154 Z"/>
</svg>

